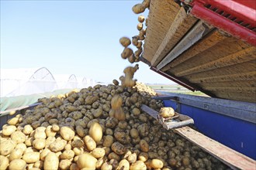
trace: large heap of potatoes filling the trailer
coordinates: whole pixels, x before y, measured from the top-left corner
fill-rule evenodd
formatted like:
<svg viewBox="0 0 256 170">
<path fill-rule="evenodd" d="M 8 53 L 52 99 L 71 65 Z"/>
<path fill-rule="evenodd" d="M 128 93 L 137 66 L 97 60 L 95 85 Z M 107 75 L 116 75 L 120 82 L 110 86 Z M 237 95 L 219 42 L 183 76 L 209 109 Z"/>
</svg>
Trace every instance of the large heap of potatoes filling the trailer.
<svg viewBox="0 0 256 170">
<path fill-rule="evenodd" d="M 96 85 L 40 99 L 2 127 L 0 169 L 226 168 L 140 110 L 163 107 L 140 86 Z"/>
</svg>

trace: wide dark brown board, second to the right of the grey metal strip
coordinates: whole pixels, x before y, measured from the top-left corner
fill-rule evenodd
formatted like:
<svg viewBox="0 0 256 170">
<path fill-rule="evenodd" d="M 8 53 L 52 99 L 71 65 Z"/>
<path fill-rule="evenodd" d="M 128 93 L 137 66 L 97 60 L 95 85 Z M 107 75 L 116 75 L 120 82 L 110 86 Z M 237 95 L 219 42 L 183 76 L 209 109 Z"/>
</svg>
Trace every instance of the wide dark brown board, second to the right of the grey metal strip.
<svg viewBox="0 0 256 170">
<path fill-rule="evenodd" d="M 243 49 L 247 49 L 248 47 L 250 46 L 247 43 L 234 37 L 230 37 L 216 43 L 215 46 L 206 49 L 203 53 L 199 53 L 178 66 L 171 68 L 171 70 L 175 73 L 182 72 L 183 70 L 189 70 L 195 66 L 200 66 L 216 59 L 237 53 Z"/>
</svg>

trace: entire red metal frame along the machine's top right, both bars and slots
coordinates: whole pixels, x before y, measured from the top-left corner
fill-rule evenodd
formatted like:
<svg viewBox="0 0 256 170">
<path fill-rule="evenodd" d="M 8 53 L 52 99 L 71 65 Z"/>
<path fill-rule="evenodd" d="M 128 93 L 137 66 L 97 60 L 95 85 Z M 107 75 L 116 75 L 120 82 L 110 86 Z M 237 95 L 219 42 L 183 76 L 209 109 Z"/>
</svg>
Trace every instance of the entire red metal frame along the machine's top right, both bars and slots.
<svg viewBox="0 0 256 170">
<path fill-rule="evenodd" d="M 192 6 L 198 19 L 256 46 L 256 2 L 254 0 L 182 0 Z"/>
</svg>

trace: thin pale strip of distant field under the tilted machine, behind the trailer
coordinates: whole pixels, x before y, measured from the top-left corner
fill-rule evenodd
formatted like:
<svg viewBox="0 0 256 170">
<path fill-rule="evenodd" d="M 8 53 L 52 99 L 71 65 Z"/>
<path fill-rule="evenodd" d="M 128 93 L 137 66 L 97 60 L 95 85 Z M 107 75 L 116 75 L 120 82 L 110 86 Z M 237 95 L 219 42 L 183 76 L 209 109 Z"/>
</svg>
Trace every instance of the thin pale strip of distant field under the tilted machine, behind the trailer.
<svg viewBox="0 0 256 170">
<path fill-rule="evenodd" d="M 192 92 L 191 90 L 188 90 L 185 87 L 182 87 L 178 84 L 147 84 L 147 86 L 151 87 L 157 92 L 165 91 L 165 92 L 171 92 L 171 93 L 184 93 L 184 94 L 190 94 L 195 96 L 207 97 L 205 93 L 202 93 L 200 91 Z"/>
</svg>

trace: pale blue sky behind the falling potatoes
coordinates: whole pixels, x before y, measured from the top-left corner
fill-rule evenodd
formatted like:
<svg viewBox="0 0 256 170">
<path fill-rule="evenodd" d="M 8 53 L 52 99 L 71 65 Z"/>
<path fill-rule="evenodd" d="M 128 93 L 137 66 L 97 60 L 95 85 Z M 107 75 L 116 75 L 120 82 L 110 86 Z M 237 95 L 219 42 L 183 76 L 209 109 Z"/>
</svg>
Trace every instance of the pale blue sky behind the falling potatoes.
<svg viewBox="0 0 256 170">
<path fill-rule="evenodd" d="M 44 66 L 53 75 L 118 80 L 126 66 L 135 65 L 121 58 L 119 39 L 138 34 L 139 15 L 132 7 L 140 2 L 2 0 L 1 68 Z M 139 66 L 134 75 L 139 82 L 173 84 L 146 64 Z"/>
</svg>

